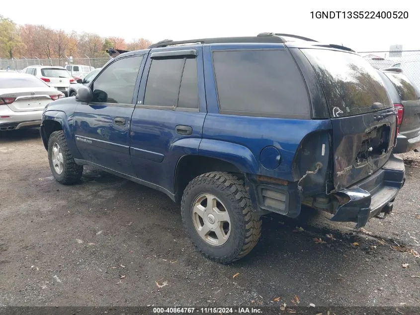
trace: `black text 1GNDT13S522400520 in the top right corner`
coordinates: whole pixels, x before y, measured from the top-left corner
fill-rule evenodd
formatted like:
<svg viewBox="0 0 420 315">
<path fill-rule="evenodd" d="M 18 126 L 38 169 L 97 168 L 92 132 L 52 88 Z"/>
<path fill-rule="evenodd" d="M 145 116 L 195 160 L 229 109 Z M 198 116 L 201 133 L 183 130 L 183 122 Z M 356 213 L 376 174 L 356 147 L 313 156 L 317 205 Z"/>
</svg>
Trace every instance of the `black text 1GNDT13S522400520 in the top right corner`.
<svg viewBox="0 0 420 315">
<path fill-rule="evenodd" d="M 408 11 L 311 11 L 311 17 L 322 18 L 408 18 Z"/>
</svg>

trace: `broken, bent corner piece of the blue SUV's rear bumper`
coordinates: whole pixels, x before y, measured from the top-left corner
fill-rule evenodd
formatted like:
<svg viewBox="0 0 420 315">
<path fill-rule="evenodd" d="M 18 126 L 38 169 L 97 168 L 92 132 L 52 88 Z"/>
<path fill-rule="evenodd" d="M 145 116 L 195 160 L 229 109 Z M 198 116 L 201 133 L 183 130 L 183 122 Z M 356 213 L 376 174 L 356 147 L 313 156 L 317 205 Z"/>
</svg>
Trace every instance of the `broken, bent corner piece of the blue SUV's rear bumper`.
<svg viewBox="0 0 420 315">
<path fill-rule="evenodd" d="M 370 215 L 371 195 L 361 188 L 353 188 L 351 190 L 343 189 L 339 194 L 343 194 L 350 200 L 338 207 L 336 214 L 334 214 L 331 220 L 356 222 L 356 228 L 365 226 Z"/>
</svg>

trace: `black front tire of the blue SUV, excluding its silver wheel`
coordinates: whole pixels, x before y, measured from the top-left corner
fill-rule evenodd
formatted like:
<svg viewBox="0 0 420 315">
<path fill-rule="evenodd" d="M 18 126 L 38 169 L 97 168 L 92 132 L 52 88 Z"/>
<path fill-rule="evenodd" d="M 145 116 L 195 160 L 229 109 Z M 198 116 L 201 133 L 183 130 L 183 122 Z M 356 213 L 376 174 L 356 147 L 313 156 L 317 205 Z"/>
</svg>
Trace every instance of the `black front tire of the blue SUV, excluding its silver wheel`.
<svg viewBox="0 0 420 315">
<path fill-rule="evenodd" d="M 63 155 L 63 171 L 59 174 L 55 170 L 52 161 L 52 150 L 54 143 L 57 143 Z M 65 185 L 70 185 L 78 182 L 83 174 L 83 165 L 77 165 L 72 153 L 70 152 L 64 132 L 54 131 L 48 139 L 48 160 L 50 162 L 50 169 L 57 182 Z"/>
</svg>

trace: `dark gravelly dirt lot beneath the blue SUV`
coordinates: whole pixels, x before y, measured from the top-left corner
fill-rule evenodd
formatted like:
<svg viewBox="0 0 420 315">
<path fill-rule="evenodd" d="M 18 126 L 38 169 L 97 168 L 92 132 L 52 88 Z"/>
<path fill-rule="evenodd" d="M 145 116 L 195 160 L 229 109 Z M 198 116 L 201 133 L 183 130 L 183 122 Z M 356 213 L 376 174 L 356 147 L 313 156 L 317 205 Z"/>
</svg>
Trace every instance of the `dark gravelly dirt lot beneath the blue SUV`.
<svg viewBox="0 0 420 315">
<path fill-rule="evenodd" d="M 271 215 L 250 255 L 220 265 L 164 194 L 92 168 L 58 184 L 38 130 L 1 134 L 0 165 L 0 306 L 420 306 L 419 168 L 366 230 Z"/>
</svg>

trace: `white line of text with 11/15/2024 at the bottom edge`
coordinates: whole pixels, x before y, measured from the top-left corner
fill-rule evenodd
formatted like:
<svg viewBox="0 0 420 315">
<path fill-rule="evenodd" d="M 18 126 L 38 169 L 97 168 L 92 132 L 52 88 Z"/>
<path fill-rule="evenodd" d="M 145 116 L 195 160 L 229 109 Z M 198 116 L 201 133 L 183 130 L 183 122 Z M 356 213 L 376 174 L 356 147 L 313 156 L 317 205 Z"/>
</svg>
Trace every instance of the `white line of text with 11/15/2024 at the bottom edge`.
<svg viewBox="0 0 420 315">
<path fill-rule="evenodd" d="M 247 308 L 247 307 L 238 307 L 238 308 L 153 308 L 153 313 L 155 314 L 227 314 L 227 313 L 238 313 L 238 314 L 261 314 L 262 310 L 258 308 Z"/>
</svg>

